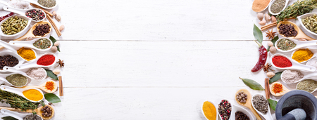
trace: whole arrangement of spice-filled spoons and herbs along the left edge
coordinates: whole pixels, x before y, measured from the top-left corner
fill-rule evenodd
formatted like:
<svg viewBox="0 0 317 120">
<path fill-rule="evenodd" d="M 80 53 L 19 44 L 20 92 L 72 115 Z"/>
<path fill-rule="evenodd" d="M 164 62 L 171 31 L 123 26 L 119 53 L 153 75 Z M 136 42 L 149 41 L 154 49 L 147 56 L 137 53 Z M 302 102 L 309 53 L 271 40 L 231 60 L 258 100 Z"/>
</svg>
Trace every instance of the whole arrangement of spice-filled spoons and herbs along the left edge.
<svg viewBox="0 0 317 120">
<path fill-rule="evenodd" d="M 11 13 L 0 17 L 0 36 L 10 40 L 0 40 L 0 80 L 4 83 L 0 84 L 0 101 L 10 105 L 0 107 L 1 113 L 8 115 L 1 118 L 5 120 L 52 119 L 52 104 L 58 105 L 58 95 L 63 96 L 64 62 L 58 59 L 60 42 L 52 36 L 52 27 L 58 37 L 65 28 L 56 26 L 61 21 L 61 15 L 55 11 L 58 2 L 30 2 L 33 3 L 10 0 L 4 10 Z M 13 8 L 16 11 L 11 11 Z M 17 12 L 22 10 L 26 12 Z M 12 115 L 21 113 L 25 114 L 21 118 Z"/>
</svg>

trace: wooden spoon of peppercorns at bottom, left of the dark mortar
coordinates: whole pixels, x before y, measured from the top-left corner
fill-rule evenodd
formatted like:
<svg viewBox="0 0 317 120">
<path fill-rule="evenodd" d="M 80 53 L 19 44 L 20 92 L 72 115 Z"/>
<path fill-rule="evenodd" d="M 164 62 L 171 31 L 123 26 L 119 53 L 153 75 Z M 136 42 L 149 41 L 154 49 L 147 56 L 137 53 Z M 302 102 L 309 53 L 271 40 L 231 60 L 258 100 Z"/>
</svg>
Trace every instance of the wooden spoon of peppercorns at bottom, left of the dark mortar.
<svg viewBox="0 0 317 120">
<path fill-rule="evenodd" d="M 247 102 L 242 103 L 242 102 L 237 101 L 236 95 L 237 95 L 237 93 L 239 93 L 239 92 L 244 92 L 244 93 L 246 93 L 246 94 L 248 95 Z M 262 120 L 261 116 L 259 116 L 258 112 L 256 112 L 256 110 L 255 110 L 255 109 L 252 107 L 252 105 L 251 105 L 251 97 L 252 97 L 252 95 L 250 94 L 250 92 L 249 92 L 247 89 L 240 89 L 239 91 L 237 91 L 237 93 L 235 93 L 235 101 L 237 101 L 237 103 L 238 103 L 239 105 L 242 105 L 242 106 L 244 106 L 244 107 L 249 108 L 249 109 L 251 110 L 251 112 L 253 112 L 254 116 L 256 116 L 256 119 Z"/>
</svg>

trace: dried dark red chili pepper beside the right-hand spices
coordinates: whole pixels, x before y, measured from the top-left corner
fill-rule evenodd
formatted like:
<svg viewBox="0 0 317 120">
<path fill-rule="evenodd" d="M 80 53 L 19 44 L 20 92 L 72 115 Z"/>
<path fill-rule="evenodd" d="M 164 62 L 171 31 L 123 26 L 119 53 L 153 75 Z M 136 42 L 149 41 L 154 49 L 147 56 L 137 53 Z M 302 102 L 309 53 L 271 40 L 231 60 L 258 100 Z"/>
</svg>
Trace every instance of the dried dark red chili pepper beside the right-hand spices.
<svg viewBox="0 0 317 120">
<path fill-rule="evenodd" d="M 262 44 L 259 44 L 258 42 L 256 42 L 256 44 L 259 45 L 260 56 L 256 65 L 251 69 L 251 72 L 259 71 L 266 64 L 266 59 L 268 58 L 268 51 L 266 51 L 266 48 L 262 46 Z"/>
</svg>

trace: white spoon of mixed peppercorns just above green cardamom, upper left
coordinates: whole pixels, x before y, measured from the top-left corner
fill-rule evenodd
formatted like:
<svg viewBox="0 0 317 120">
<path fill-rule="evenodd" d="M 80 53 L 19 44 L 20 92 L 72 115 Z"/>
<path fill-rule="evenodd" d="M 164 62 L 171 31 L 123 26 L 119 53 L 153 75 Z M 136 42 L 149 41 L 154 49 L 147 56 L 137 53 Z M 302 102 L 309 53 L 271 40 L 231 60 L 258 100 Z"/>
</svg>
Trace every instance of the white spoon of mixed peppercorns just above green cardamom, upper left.
<svg viewBox="0 0 317 120">
<path fill-rule="evenodd" d="M 46 18 L 46 13 L 43 11 L 43 10 L 41 10 L 41 9 L 39 9 L 39 8 L 31 8 L 31 9 L 18 9 L 18 8 L 13 8 L 13 7 L 11 7 L 11 6 L 4 6 L 4 11 L 9 11 L 9 12 L 13 12 L 13 13 L 18 13 L 18 14 L 20 14 L 20 15 L 23 15 L 23 16 L 25 16 L 25 17 L 27 17 L 27 15 L 25 15 L 25 13 L 27 12 L 27 11 L 31 11 L 31 10 L 37 10 L 37 11 L 42 11 L 42 13 L 44 13 L 44 18 L 42 19 L 42 20 L 33 20 L 32 18 L 30 18 L 32 21 L 34 21 L 34 22 L 41 22 L 41 21 L 43 21 L 45 18 Z M 27 17 L 27 18 L 29 18 L 29 17 Z"/>
</svg>

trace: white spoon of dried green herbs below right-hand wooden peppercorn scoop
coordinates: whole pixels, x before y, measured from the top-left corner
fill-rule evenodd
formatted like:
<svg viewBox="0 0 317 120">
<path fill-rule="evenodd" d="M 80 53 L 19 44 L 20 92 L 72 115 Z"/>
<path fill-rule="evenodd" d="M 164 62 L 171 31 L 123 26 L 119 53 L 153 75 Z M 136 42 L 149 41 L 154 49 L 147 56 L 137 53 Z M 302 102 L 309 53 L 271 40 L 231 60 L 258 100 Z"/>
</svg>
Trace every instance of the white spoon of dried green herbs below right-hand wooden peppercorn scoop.
<svg viewBox="0 0 317 120">
<path fill-rule="evenodd" d="M 278 48 L 278 41 L 280 41 L 281 39 L 288 39 L 290 41 L 294 41 L 294 43 L 296 44 L 296 46 L 290 50 L 287 51 L 282 51 L 280 48 Z M 293 51 L 295 49 L 298 48 L 302 48 L 302 47 L 306 47 L 306 46 L 316 46 L 317 45 L 317 40 L 313 40 L 313 41 L 297 41 L 296 39 L 290 39 L 290 38 L 280 38 L 278 39 L 278 41 L 275 42 L 275 48 L 280 51 L 280 52 L 290 52 Z"/>
</svg>

